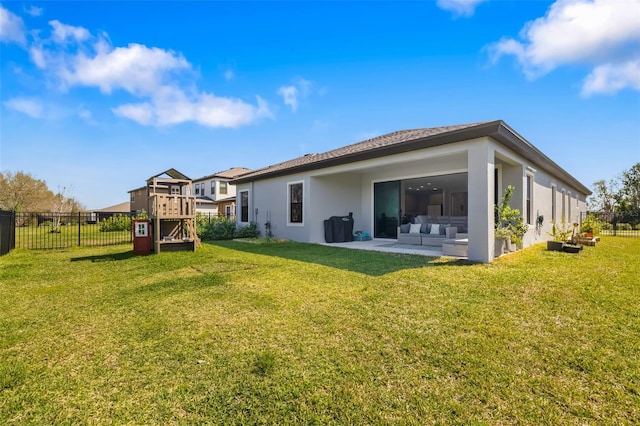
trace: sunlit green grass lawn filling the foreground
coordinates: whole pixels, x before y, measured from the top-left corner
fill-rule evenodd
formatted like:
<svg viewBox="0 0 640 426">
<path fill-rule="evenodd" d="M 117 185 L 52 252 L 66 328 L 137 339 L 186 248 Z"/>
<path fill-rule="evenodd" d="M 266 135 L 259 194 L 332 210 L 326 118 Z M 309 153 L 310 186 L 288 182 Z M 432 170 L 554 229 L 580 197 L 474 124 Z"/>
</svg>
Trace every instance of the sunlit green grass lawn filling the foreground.
<svg viewBox="0 0 640 426">
<path fill-rule="evenodd" d="M 0 258 L 2 424 L 638 424 L 640 239 Z"/>
</svg>

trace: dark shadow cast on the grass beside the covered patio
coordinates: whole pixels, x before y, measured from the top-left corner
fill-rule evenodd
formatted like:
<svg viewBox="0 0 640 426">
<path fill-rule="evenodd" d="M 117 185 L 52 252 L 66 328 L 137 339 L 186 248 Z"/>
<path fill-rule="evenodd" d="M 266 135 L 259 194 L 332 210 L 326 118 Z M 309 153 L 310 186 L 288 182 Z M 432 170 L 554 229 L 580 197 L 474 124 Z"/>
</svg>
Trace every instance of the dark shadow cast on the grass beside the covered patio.
<svg viewBox="0 0 640 426">
<path fill-rule="evenodd" d="M 245 253 L 275 256 L 300 262 L 315 263 L 371 276 L 381 276 L 404 269 L 474 265 L 464 259 L 431 257 L 415 254 L 388 253 L 330 247 L 321 244 L 257 240 L 215 241 L 207 244 Z"/>
</svg>

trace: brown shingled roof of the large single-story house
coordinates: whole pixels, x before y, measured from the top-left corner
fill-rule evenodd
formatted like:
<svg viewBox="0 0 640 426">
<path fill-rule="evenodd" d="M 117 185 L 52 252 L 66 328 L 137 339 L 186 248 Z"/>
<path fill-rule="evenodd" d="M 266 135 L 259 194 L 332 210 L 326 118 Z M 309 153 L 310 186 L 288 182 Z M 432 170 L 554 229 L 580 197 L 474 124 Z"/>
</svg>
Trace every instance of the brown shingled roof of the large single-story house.
<svg viewBox="0 0 640 426">
<path fill-rule="evenodd" d="M 586 186 L 558 166 L 502 120 L 424 129 L 399 130 L 322 154 L 308 154 L 283 163 L 264 167 L 244 174 L 234 179 L 231 183 L 236 185 L 277 176 L 318 170 L 486 136 L 491 137 L 517 154 L 527 158 L 539 168 L 572 184 L 583 193 L 587 195 L 591 194 L 591 191 L 589 191 Z"/>
</svg>

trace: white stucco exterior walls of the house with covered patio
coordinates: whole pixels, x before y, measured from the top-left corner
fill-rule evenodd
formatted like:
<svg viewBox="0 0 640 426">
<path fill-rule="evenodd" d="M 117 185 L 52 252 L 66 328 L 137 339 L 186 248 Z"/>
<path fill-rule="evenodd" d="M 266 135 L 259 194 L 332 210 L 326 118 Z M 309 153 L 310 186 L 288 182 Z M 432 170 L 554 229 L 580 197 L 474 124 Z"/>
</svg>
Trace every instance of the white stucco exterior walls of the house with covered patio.
<svg viewBox="0 0 640 426">
<path fill-rule="evenodd" d="M 557 217 L 562 214 L 562 191 L 571 193 L 571 221 L 578 222 L 586 210 L 586 195 L 537 170 L 525 158 L 491 138 L 458 142 L 384 158 L 258 180 L 238 185 L 235 193 L 249 191 L 249 221 L 258 224 L 264 235 L 264 223 L 271 221 L 275 237 L 302 242 L 324 242 L 323 221 L 330 216 L 352 212 L 354 230 L 373 235 L 373 187 L 376 182 L 468 173 L 469 259 L 489 262 L 494 254 L 494 169 L 498 167 L 501 186 L 499 199 L 508 185 L 516 190 L 511 206 L 526 220 L 526 176 L 533 177 L 532 221 L 523 238 L 524 246 L 548 240 L 551 229 L 551 185 L 557 187 Z M 288 223 L 288 183 L 303 183 L 303 223 Z M 229 187 L 231 188 L 231 186 Z M 236 203 L 240 218 L 240 201 Z M 256 215 L 257 209 L 257 215 Z M 542 227 L 535 225 L 544 216 Z M 242 224 L 240 224 L 242 226 Z"/>
</svg>

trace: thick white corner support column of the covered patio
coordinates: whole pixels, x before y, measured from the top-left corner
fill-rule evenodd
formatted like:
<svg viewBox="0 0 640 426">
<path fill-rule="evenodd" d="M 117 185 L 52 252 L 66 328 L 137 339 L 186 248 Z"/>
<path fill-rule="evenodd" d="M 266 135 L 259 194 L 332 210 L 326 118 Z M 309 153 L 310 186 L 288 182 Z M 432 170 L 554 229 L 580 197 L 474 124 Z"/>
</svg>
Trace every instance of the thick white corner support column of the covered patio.
<svg viewBox="0 0 640 426">
<path fill-rule="evenodd" d="M 469 260 L 493 260 L 493 173 L 495 154 L 488 140 L 471 144 L 467 151 L 469 168 Z"/>
</svg>

